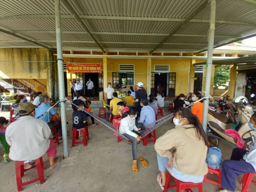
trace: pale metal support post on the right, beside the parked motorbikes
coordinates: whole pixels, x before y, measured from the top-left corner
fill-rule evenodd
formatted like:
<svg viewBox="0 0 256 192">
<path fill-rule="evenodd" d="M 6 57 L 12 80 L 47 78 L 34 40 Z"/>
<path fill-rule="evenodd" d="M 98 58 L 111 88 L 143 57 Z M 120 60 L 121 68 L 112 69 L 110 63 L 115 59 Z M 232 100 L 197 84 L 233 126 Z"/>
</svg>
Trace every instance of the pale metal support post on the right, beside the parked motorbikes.
<svg viewBox="0 0 256 192">
<path fill-rule="evenodd" d="M 216 12 L 216 0 L 210 0 L 210 27 L 209 27 L 209 36 L 208 36 L 208 51 L 207 51 L 207 65 L 206 65 L 206 78 L 204 91 L 210 93 L 210 84 L 211 84 L 211 73 L 212 73 L 212 53 L 213 53 L 213 43 L 214 43 L 214 31 L 215 31 L 215 12 Z M 204 113 L 203 113 L 203 128 L 206 131 L 207 128 L 207 115 L 208 115 L 208 106 L 209 101 L 204 100 Z"/>
</svg>

